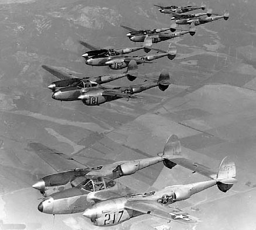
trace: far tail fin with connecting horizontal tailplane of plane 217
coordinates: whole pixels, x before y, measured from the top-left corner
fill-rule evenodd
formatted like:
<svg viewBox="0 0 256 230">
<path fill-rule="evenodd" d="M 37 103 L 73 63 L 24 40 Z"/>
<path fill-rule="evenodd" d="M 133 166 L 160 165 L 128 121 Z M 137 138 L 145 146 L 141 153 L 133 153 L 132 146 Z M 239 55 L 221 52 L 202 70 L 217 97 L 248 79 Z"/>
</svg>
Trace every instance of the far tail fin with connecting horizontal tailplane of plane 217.
<svg viewBox="0 0 256 230">
<path fill-rule="evenodd" d="M 163 149 L 163 158 L 203 176 L 216 179 L 217 172 L 214 172 L 209 167 L 189 159 L 189 156 L 182 154 L 180 140 L 176 135 L 172 135 L 168 138 L 165 148 Z"/>
</svg>

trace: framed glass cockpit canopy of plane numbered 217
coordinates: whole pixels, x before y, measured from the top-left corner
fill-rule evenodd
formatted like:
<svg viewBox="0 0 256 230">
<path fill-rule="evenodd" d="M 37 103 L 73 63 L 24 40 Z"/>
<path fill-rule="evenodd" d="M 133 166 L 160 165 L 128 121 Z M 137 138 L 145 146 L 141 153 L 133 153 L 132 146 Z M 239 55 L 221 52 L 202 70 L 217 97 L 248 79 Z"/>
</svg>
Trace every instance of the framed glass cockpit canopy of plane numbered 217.
<svg viewBox="0 0 256 230">
<path fill-rule="evenodd" d="M 84 182 L 80 184 L 81 190 L 89 192 L 108 189 L 114 185 L 114 180 L 110 180 L 102 176 L 93 176 L 90 179 L 84 180 Z"/>
</svg>

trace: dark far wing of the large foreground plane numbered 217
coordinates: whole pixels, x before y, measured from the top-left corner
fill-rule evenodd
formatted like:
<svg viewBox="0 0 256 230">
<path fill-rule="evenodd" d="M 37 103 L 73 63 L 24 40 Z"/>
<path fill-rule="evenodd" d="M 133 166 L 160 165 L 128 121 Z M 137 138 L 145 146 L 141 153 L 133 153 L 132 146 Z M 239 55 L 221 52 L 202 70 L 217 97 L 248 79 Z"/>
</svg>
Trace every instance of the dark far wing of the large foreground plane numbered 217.
<svg viewBox="0 0 256 230">
<path fill-rule="evenodd" d="M 56 151 L 39 142 L 30 142 L 29 150 L 35 152 L 43 161 L 50 165 L 57 172 L 76 168 L 88 168 L 88 166 L 76 161 L 72 156 Z"/>
</svg>

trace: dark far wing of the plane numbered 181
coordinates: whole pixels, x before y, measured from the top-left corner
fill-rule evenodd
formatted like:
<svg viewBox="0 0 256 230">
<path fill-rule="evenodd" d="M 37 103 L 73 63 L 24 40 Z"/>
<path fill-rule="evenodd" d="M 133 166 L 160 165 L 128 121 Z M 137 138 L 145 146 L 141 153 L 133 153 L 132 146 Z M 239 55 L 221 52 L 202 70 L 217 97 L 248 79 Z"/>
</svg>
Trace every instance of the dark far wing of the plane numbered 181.
<svg viewBox="0 0 256 230">
<path fill-rule="evenodd" d="M 52 75 L 56 76 L 60 80 L 67 80 L 71 78 L 83 78 L 84 74 L 80 74 L 75 71 L 64 67 L 52 67 L 50 65 L 42 65 L 42 68 L 50 72 Z"/>
</svg>

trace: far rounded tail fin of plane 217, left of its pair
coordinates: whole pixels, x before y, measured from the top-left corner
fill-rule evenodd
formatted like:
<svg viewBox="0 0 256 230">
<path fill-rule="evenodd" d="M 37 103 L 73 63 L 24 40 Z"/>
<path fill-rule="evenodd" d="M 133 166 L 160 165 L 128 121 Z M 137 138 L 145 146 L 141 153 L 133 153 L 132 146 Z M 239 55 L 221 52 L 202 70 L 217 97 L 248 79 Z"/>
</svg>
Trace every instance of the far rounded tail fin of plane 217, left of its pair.
<svg viewBox="0 0 256 230">
<path fill-rule="evenodd" d="M 175 134 L 171 135 L 166 141 L 165 148 L 163 149 L 163 164 L 172 169 L 176 163 L 172 162 L 171 159 L 182 154 L 181 144 L 179 137 Z"/>
</svg>

